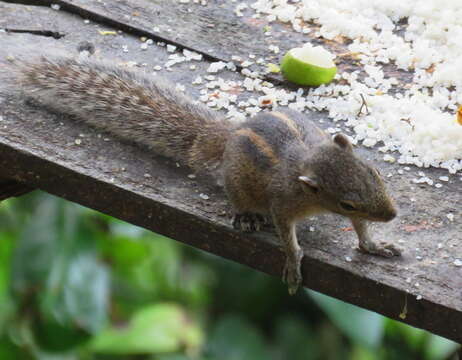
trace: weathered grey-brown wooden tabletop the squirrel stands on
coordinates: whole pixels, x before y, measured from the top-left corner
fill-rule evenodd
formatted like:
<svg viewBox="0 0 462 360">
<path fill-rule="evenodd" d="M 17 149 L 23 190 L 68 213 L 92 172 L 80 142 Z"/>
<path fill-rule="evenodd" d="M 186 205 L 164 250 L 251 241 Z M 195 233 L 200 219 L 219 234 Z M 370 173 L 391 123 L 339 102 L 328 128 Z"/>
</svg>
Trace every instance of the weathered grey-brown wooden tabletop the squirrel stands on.
<svg viewBox="0 0 462 360">
<path fill-rule="evenodd" d="M 209 1 L 208 7 L 189 5 L 190 13 L 185 13 L 187 7 L 173 1 L 153 1 L 152 5 L 143 7 L 141 4 L 146 3 L 141 0 L 107 1 L 106 5 L 86 0 L 58 3 L 61 3 L 62 10 L 74 12 L 82 7 L 80 13 L 95 21 L 85 24 L 83 18 L 66 11 L 0 2 L 0 14 L 5 14 L 0 16 L 0 28 L 65 35 L 55 39 L 36 32 L 0 32 L 0 46 L 5 50 L 0 55 L 0 66 L 6 61 L 5 54 L 28 56 L 38 49 L 75 52 L 76 44 L 82 40 L 91 40 L 98 49 L 97 56 L 115 63 L 136 61 L 146 63 L 146 67 L 152 69 L 167 61 L 169 53 L 163 47 L 151 46 L 143 51 L 137 37 L 126 34 L 102 36 L 99 30 L 112 30 L 105 25 L 106 21 L 112 25 L 118 23 L 124 30 L 138 35 L 159 26 L 159 38 L 197 48 L 209 54 L 208 59 L 227 60 L 232 55 L 248 56 L 250 53 L 263 56 L 268 51 L 259 35 L 265 24 L 235 17 L 230 11 L 231 5 L 225 1 Z M 163 6 L 164 3 L 169 6 Z M 158 12 L 154 10 L 156 8 Z M 204 13 L 209 14 L 207 21 L 226 26 L 220 28 L 221 31 L 211 31 L 214 27 L 199 22 Z M 98 15 L 92 18 L 92 14 Z M 178 19 L 173 24 L 176 26 L 175 38 L 162 25 L 172 18 Z M 138 33 L 136 29 L 139 29 Z M 284 25 L 280 25 L 279 31 L 274 41 L 281 49 L 288 38 L 301 41 L 297 40 L 301 35 L 292 36 Z M 122 46 L 127 46 L 129 51 L 124 52 Z M 204 75 L 209 63 L 194 64 L 197 67 L 194 71 L 189 70 L 191 63 L 183 63 L 175 66 L 175 71 L 165 71 L 162 75 L 184 84 L 186 92 L 197 98 L 199 88 L 190 85 L 191 81 L 197 75 Z M 219 75 L 225 79 L 243 80 L 238 73 Z M 278 81 L 280 79 L 274 79 L 275 83 Z M 244 92 L 241 96 L 249 95 Z M 1 177 L 43 189 L 280 276 L 284 254 L 278 247 L 276 236 L 265 232 L 247 235 L 234 231 L 224 194 L 209 185 L 208 178 L 191 180 L 187 177 L 191 173 L 187 168 L 177 167 L 145 149 L 121 143 L 110 135 L 27 105 L 9 95 L 1 84 L 0 117 Z M 332 125 L 325 114 L 315 114 L 315 117 L 325 120 L 321 126 Z M 81 140 L 79 145 L 76 139 Z M 419 169 L 412 168 L 399 175 L 397 170 L 400 167 L 380 162 L 383 155 L 377 151 L 362 148 L 357 151 L 375 161 L 383 174 L 393 174 L 387 182 L 399 205 L 399 216 L 392 223 L 377 225 L 374 237 L 377 241 L 403 241 L 399 245 L 405 248 L 404 257 L 388 260 L 360 254 L 354 250 L 355 234 L 349 231 L 350 225 L 344 219 L 333 215 L 309 219 L 298 229 L 306 254 L 304 285 L 462 342 L 462 268 L 453 264 L 455 258 L 462 257 L 462 224 L 458 216 L 462 207 L 461 182 L 452 177 L 441 189 L 420 187 L 412 183 L 412 179 L 418 177 Z M 446 175 L 445 171 L 438 169 L 426 170 L 426 173 L 433 178 Z M 209 200 L 201 199 L 201 193 L 207 194 Z M 446 217 L 449 212 L 456 215 L 452 222 Z M 309 231 L 310 227 L 314 231 Z M 422 299 L 417 300 L 418 295 Z"/>
</svg>

